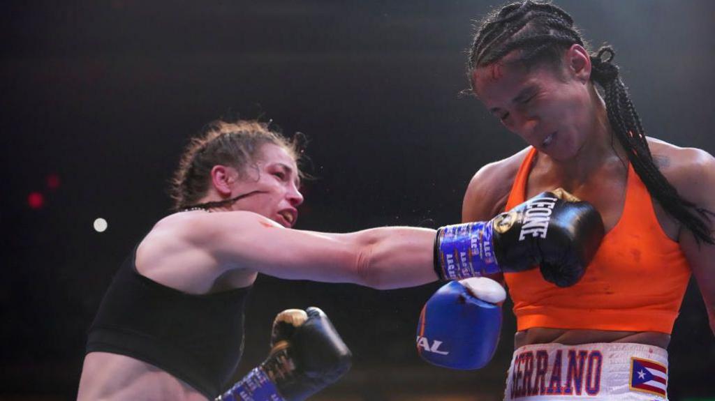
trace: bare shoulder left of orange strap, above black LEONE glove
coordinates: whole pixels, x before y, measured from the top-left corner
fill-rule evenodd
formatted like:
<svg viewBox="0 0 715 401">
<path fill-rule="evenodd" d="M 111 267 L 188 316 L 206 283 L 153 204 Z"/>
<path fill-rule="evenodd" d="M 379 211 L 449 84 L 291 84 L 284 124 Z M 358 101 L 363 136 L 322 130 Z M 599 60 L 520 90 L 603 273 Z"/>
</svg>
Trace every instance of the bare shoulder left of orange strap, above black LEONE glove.
<svg viewBox="0 0 715 401">
<path fill-rule="evenodd" d="M 516 173 L 529 149 L 488 163 L 474 174 L 462 204 L 463 221 L 488 220 L 503 211 Z"/>
</svg>

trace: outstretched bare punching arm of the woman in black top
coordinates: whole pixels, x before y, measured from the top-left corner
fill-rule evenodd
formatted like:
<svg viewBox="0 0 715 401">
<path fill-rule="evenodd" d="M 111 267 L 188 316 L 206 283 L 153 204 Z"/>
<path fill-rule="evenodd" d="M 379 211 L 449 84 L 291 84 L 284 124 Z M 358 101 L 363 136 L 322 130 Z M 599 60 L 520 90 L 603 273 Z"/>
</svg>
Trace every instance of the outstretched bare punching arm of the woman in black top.
<svg viewBox="0 0 715 401">
<path fill-rule="evenodd" d="M 203 231 L 203 233 L 201 233 Z M 192 234 L 223 269 L 277 278 L 404 288 L 437 279 L 435 230 L 380 227 L 355 233 L 292 230 L 250 212 L 204 215 Z M 218 272 L 221 273 L 221 272 Z"/>
</svg>

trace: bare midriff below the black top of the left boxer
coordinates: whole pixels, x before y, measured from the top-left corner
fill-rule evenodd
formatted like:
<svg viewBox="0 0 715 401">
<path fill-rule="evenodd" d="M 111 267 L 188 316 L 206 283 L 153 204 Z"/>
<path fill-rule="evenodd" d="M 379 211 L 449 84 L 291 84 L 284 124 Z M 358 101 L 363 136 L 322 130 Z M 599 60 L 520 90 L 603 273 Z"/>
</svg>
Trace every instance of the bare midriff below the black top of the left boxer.
<svg viewBox="0 0 715 401">
<path fill-rule="evenodd" d="M 169 373 L 124 355 L 90 352 L 84 358 L 77 400 L 207 401 Z"/>
</svg>

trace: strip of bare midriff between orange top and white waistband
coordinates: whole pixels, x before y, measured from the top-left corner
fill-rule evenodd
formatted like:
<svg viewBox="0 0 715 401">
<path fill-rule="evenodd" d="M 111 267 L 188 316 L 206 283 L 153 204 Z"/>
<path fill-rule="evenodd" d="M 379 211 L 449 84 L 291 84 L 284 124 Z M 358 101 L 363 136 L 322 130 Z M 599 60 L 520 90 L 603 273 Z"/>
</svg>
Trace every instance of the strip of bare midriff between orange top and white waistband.
<svg viewBox="0 0 715 401">
<path fill-rule="evenodd" d="M 514 347 L 532 344 L 558 343 L 563 345 L 590 344 L 593 342 L 631 342 L 654 345 L 666 349 L 670 335 L 656 332 L 572 330 L 553 328 L 531 328 L 514 335 Z"/>
</svg>

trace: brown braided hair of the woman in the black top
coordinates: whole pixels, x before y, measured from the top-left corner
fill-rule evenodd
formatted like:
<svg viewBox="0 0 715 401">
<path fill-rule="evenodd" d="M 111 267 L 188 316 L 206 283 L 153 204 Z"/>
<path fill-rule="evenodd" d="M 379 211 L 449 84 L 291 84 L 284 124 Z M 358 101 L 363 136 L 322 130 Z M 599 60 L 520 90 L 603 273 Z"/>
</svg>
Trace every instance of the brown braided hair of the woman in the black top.
<svg viewBox="0 0 715 401">
<path fill-rule="evenodd" d="M 209 209 L 234 203 L 242 196 L 197 203 L 203 198 L 211 182 L 211 169 L 218 165 L 231 166 L 239 173 L 255 163 L 260 156 L 260 148 L 266 143 L 284 148 L 296 162 L 303 156 L 305 136 L 296 133 L 288 140 L 280 133 L 269 128 L 270 123 L 261 121 L 239 120 L 227 122 L 212 121 L 204 127 L 202 133 L 191 139 L 179 161 L 179 168 L 174 172 L 169 193 L 174 200 L 173 210 L 194 208 Z M 302 172 L 298 171 L 300 177 Z"/>
</svg>

